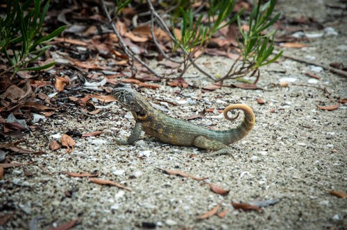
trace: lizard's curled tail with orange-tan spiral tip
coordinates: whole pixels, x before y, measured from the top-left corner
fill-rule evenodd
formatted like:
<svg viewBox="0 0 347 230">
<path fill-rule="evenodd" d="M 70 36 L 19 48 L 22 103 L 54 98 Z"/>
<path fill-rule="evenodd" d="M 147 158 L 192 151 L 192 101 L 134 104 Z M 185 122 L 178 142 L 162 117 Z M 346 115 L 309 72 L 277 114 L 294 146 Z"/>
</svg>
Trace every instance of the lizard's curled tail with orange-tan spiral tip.
<svg viewBox="0 0 347 230">
<path fill-rule="evenodd" d="M 255 124 L 255 116 L 253 110 L 251 109 L 251 107 L 244 104 L 229 105 L 224 109 L 223 114 L 228 121 L 234 121 L 239 116 L 239 114 L 237 114 L 237 116 L 233 118 L 230 118 L 230 116 L 228 116 L 228 112 L 233 109 L 240 109 L 244 112 L 244 121 L 242 121 L 242 123 L 238 127 L 236 127 L 235 130 L 232 130 L 232 132 L 230 132 L 230 139 L 228 140 L 227 144 L 234 143 L 235 141 L 239 141 L 240 139 L 244 138 L 244 136 L 251 132 Z"/>
</svg>

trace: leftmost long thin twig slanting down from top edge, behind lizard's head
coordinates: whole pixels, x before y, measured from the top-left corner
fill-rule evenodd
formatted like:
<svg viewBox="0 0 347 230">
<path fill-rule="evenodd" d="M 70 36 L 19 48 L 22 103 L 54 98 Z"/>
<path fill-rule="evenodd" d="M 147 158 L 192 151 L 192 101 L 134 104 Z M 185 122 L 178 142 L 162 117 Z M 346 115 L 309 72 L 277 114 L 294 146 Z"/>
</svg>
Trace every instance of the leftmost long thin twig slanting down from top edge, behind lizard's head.
<svg viewBox="0 0 347 230">
<path fill-rule="evenodd" d="M 157 77 L 162 77 L 160 76 L 160 74 L 158 74 L 157 72 L 155 72 L 153 69 L 151 69 L 151 67 L 149 67 L 146 63 L 144 63 L 141 59 L 139 59 L 139 57 L 137 57 L 133 52 L 131 52 L 128 47 L 126 46 L 126 44 L 124 43 L 123 39 L 121 38 L 121 35 L 119 34 L 116 26 L 115 26 L 115 22 L 112 21 L 110 14 L 108 13 L 108 9 L 105 6 L 105 1 L 100 0 L 101 3 L 101 8 L 103 10 L 104 15 L 106 16 L 106 18 L 108 19 L 108 23 L 110 23 L 113 32 L 115 32 L 118 40 L 119 40 L 119 44 L 121 44 L 121 47 L 123 48 L 124 52 L 126 53 L 126 55 L 128 55 L 128 57 L 135 59 L 137 62 L 139 62 L 139 64 L 142 64 L 143 67 L 145 67 L 146 69 L 148 69 L 151 73 L 153 73 L 155 76 Z"/>
</svg>

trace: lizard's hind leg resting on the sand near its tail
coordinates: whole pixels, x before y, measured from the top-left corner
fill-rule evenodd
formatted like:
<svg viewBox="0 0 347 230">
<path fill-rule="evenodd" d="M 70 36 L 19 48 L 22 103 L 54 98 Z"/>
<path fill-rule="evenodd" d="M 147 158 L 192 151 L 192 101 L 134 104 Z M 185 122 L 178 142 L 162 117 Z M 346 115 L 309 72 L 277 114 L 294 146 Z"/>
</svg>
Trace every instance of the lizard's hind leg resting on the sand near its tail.
<svg viewBox="0 0 347 230">
<path fill-rule="evenodd" d="M 194 140 L 194 146 L 198 148 L 204 148 L 206 150 L 214 150 L 206 155 L 206 157 L 212 157 L 221 154 L 231 154 L 231 150 L 228 145 L 221 143 L 220 141 L 212 141 L 205 136 L 198 136 Z"/>
</svg>

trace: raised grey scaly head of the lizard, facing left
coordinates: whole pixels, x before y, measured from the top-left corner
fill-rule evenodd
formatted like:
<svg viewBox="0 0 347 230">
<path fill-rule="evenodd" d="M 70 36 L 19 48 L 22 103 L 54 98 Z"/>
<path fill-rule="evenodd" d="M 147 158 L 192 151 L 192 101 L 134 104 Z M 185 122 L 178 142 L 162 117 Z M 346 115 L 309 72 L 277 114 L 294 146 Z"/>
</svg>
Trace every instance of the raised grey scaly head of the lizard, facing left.
<svg viewBox="0 0 347 230">
<path fill-rule="evenodd" d="M 121 103 L 121 106 L 130 110 L 136 120 L 145 120 L 146 114 L 149 111 L 149 103 L 135 89 L 116 88 L 114 89 L 115 98 Z"/>
</svg>

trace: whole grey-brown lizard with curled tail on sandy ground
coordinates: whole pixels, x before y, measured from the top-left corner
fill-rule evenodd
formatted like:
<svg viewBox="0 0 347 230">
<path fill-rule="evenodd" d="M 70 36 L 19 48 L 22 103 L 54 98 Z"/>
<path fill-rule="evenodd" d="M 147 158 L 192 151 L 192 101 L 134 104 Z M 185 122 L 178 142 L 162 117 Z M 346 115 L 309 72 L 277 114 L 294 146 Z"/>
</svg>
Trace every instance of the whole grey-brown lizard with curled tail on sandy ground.
<svg viewBox="0 0 347 230">
<path fill-rule="evenodd" d="M 195 146 L 205 150 L 213 150 L 212 155 L 230 154 L 229 146 L 244 138 L 255 125 L 253 110 L 248 105 L 228 105 L 223 110 L 224 117 L 229 121 L 237 119 L 228 116 L 233 109 L 241 109 L 244 112 L 244 121 L 234 129 L 209 130 L 163 114 L 155 109 L 149 101 L 135 89 L 119 87 L 114 89 L 115 98 L 121 106 L 130 110 L 135 118 L 135 127 L 127 140 L 119 140 L 122 144 L 133 144 L 139 139 L 141 131 L 154 137 L 162 143 L 170 143 L 180 146 Z"/>
</svg>

